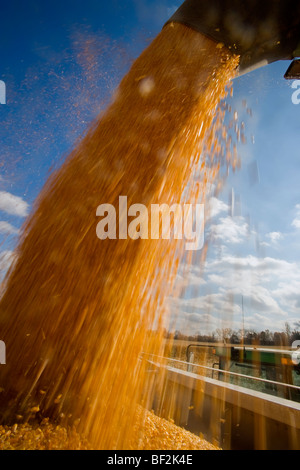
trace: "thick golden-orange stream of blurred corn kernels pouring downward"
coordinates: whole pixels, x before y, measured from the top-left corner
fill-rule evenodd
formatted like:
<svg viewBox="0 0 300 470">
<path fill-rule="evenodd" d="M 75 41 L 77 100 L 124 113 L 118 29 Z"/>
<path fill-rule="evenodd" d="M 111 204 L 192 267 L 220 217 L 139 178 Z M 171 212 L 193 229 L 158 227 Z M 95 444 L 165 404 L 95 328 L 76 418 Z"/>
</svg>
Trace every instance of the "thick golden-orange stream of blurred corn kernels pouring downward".
<svg viewBox="0 0 300 470">
<path fill-rule="evenodd" d="M 200 34 L 168 25 L 50 177 L 3 286 L 0 438 L 17 426 L 30 447 L 46 419 L 48 438 L 52 429 L 65 447 L 62 430 L 74 426 L 96 449 L 151 448 L 146 412 L 137 413 L 142 396 L 151 403 L 141 353 L 161 350 L 184 240 L 99 240 L 96 209 L 117 208 L 121 195 L 128 207 L 205 201 L 220 164 L 238 164 L 216 137 L 217 105 L 237 63 Z"/>
</svg>

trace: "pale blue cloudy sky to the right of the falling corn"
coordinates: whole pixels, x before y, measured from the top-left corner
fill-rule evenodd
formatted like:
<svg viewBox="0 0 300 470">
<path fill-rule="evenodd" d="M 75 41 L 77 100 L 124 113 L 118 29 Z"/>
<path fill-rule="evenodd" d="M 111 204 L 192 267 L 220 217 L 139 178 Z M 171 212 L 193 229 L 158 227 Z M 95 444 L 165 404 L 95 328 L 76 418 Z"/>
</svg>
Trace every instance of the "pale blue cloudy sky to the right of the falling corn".
<svg viewBox="0 0 300 470">
<path fill-rule="evenodd" d="M 282 331 L 286 322 L 298 327 L 300 105 L 283 78 L 288 64 L 234 80 L 228 104 L 245 124 L 242 166 L 211 199 L 205 268 L 195 264 L 183 280 L 185 295 L 171 299 L 177 327 L 190 334 L 241 329 L 243 316 L 246 329 Z"/>
</svg>

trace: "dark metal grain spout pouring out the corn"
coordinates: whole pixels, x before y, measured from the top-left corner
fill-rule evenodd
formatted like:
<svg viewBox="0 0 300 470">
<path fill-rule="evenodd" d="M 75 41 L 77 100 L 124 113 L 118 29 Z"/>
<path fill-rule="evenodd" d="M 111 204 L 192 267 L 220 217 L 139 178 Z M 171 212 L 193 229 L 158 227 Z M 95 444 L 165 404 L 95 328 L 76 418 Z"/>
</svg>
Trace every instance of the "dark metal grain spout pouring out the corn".
<svg viewBox="0 0 300 470">
<path fill-rule="evenodd" d="M 238 54 L 239 75 L 300 56 L 299 0 L 186 0 L 167 24 L 171 22 Z"/>
</svg>

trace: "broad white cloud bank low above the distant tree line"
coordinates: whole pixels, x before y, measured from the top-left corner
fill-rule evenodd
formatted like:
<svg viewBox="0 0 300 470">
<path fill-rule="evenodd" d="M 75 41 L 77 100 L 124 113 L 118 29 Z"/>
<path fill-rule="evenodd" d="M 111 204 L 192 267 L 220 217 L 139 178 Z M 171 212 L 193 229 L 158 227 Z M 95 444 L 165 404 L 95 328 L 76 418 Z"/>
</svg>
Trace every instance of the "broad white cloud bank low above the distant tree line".
<svg viewBox="0 0 300 470">
<path fill-rule="evenodd" d="M 201 282 L 196 289 L 196 276 Z M 253 255 L 226 255 L 207 261 L 205 276 L 194 272 L 194 288 L 185 298 L 172 299 L 177 329 L 190 334 L 216 328 L 240 329 L 242 299 L 245 328 L 281 331 L 299 319 L 300 264 Z"/>
</svg>

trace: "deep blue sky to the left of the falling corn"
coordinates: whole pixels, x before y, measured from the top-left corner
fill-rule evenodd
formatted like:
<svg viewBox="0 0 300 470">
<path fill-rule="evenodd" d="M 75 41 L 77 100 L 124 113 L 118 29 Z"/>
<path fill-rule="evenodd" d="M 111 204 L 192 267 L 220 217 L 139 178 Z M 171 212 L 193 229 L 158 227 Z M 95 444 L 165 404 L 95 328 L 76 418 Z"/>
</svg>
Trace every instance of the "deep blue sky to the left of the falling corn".
<svg viewBox="0 0 300 470">
<path fill-rule="evenodd" d="M 1 5 L 0 80 L 7 104 L 0 105 L 0 183 L 2 192 L 29 205 L 23 215 L 171 11 L 167 1 Z M 1 215 L 14 228 L 23 222 L 20 212 Z M 4 235 L 8 248 L 15 241 Z"/>
</svg>

